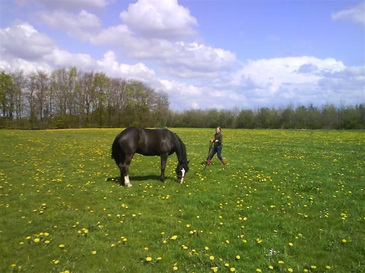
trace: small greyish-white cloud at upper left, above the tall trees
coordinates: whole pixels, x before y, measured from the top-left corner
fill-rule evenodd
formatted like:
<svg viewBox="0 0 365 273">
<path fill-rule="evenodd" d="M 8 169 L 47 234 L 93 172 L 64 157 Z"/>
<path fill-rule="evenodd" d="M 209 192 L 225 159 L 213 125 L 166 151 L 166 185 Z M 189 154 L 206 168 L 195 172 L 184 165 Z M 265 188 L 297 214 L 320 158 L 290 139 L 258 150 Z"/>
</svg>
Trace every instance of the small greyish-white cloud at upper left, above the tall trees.
<svg viewBox="0 0 365 273">
<path fill-rule="evenodd" d="M 85 10 L 81 10 L 77 15 L 62 10 L 41 11 L 36 13 L 36 17 L 40 22 L 82 41 L 88 41 L 101 30 L 99 17 Z"/>
</svg>

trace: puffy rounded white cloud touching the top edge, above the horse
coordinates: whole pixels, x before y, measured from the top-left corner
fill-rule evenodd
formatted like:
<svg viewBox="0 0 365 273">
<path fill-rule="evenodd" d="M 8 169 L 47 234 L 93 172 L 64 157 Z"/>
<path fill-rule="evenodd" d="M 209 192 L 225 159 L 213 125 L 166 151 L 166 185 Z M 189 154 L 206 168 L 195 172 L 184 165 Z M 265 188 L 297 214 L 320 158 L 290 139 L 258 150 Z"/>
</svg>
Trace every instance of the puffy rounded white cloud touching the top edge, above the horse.
<svg viewBox="0 0 365 273">
<path fill-rule="evenodd" d="M 174 39 L 195 34 L 197 19 L 177 0 L 138 0 L 122 11 L 120 18 L 144 37 Z"/>
</svg>

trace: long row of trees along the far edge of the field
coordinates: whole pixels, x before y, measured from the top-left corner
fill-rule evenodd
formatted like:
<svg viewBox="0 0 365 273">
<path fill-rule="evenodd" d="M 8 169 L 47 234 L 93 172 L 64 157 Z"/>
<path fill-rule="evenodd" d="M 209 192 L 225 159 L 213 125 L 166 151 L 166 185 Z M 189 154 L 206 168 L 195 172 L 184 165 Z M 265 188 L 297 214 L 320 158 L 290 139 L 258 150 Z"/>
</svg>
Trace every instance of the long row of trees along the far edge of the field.
<svg viewBox="0 0 365 273">
<path fill-rule="evenodd" d="M 172 111 L 167 94 L 134 79 L 82 72 L 0 72 L 0 127 L 216 127 L 364 129 L 365 105 Z"/>
</svg>

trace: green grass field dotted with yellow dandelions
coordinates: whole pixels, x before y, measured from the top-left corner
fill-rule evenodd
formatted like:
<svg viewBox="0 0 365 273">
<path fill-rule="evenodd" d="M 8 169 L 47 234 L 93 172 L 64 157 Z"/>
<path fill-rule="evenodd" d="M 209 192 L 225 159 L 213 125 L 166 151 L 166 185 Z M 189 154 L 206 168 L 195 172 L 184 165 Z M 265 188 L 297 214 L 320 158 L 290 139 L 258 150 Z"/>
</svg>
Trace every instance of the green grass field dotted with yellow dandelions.
<svg viewBox="0 0 365 273">
<path fill-rule="evenodd" d="M 363 131 L 171 129 L 190 171 L 166 183 L 121 129 L 0 130 L 0 272 L 364 272 Z"/>
</svg>

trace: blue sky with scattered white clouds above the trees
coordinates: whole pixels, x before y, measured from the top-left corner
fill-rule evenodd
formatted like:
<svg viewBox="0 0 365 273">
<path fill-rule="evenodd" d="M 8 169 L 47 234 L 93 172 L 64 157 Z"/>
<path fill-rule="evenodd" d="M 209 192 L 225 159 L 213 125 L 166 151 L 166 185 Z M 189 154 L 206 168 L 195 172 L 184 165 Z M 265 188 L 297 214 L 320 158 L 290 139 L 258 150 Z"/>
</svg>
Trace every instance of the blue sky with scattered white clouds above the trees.
<svg viewBox="0 0 365 273">
<path fill-rule="evenodd" d="M 175 111 L 365 103 L 365 1 L 1 0 L 0 69 L 138 79 Z"/>
</svg>

